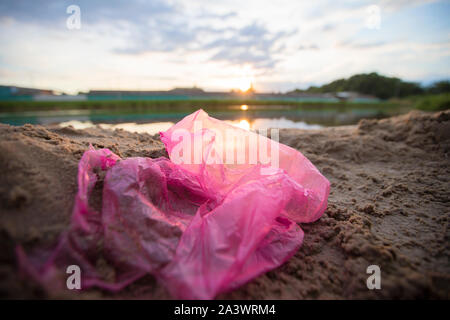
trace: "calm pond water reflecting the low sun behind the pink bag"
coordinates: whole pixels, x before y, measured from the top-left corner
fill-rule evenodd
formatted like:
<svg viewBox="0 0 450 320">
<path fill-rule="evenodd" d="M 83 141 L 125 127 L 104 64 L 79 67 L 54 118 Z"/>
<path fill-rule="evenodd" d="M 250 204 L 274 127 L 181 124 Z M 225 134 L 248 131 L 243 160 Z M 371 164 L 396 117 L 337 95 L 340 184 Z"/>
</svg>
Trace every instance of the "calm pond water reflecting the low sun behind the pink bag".
<svg viewBox="0 0 450 320">
<path fill-rule="evenodd" d="M 229 106 L 223 111 L 209 112 L 211 116 L 232 125 L 259 130 L 269 128 L 319 129 L 324 126 L 348 125 L 362 118 L 378 118 L 380 113 L 371 109 L 291 109 L 289 106 Z M 0 122 L 11 125 L 58 124 L 85 129 L 96 125 L 104 129 L 121 128 L 130 132 L 155 134 L 165 131 L 187 113 L 174 112 L 117 112 L 108 110 L 59 110 L 0 113 Z"/>
</svg>

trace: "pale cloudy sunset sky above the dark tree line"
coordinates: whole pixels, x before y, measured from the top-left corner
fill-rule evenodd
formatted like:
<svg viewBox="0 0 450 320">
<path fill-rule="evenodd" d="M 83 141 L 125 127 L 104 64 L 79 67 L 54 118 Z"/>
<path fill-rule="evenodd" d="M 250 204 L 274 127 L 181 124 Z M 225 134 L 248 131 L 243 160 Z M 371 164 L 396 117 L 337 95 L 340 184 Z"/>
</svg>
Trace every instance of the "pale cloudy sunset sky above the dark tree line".
<svg viewBox="0 0 450 320">
<path fill-rule="evenodd" d="M 285 92 L 378 72 L 427 85 L 450 78 L 449 16 L 449 0 L 0 0 L 0 84 Z"/>
</svg>

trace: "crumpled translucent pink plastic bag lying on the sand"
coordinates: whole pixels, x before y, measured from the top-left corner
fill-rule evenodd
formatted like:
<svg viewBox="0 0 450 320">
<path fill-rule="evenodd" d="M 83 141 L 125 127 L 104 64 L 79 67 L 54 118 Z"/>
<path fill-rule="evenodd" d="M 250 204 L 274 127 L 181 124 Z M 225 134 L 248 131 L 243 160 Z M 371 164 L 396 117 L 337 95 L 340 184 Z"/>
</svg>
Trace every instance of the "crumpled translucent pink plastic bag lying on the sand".
<svg viewBox="0 0 450 320">
<path fill-rule="evenodd" d="M 276 166 L 227 134 L 260 139 L 256 148 L 278 152 Z M 329 182 L 300 152 L 203 110 L 161 140 L 170 160 L 122 160 L 91 146 L 79 162 L 69 230 L 49 254 L 19 248 L 21 270 L 48 290 L 64 288 L 55 279 L 78 265 L 82 289 L 119 291 L 152 274 L 175 298 L 212 299 L 288 260 L 303 240 L 297 223 L 317 220 L 327 206 Z M 181 150 L 182 140 L 190 145 Z M 224 161 L 232 153 L 240 164 Z M 89 199 L 102 172 L 102 207 L 94 210 Z"/>
</svg>

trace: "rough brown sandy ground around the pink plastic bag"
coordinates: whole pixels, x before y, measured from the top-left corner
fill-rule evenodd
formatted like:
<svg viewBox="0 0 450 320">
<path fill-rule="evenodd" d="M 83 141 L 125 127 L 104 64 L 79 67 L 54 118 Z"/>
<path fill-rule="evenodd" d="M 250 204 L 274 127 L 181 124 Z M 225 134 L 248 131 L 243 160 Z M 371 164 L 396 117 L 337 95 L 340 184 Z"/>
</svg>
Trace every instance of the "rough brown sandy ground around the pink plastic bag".
<svg viewBox="0 0 450 320">
<path fill-rule="evenodd" d="M 285 265 L 219 299 L 449 299 L 450 111 L 282 130 L 280 142 L 330 180 L 328 209 L 302 225 L 304 244 Z M 14 247 L 50 246 L 68 227 L 89 143 L 123 158 L 165 154 L 147 134 L 0 125 L 1 297 L 53 298 L 18 276 Z M 369 265 L 381 268 L 381 290 L 366 287 Z M 169 298 L 151 276 L 116 295 L 72 294 L 64 297 Z"/>
</svg>

